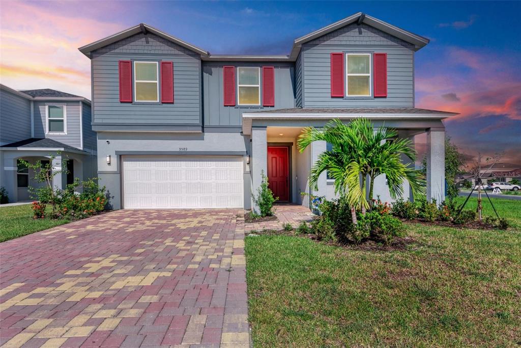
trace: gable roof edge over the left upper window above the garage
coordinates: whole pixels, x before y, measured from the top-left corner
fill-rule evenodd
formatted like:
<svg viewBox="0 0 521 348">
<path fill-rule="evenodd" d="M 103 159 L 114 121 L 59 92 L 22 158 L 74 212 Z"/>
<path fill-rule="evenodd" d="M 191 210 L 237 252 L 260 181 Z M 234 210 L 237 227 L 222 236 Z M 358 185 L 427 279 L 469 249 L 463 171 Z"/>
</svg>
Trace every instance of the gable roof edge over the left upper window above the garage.
<svg viewBox="0 0 521 348">
<path fill-rule="evenodd" d="M 91 53 L 94 50 L 100 49 L 101 47 L 105 47 L 106 45 L 109 45 L 111 43 L 126 39 L 131 37 L 132 35 L 151 32 L 153 34 L 156 34 L 159 37 L 162 37 L 163 39 L 169 40 L 173 43 L 177 43 L 180 46 L 183 46 L 185 49 L 189 49 L 193 52 L 199 53 L 201 56 L 207 56 L 209 55 L 209 52 L 204 51 L 200 49 L 199 47 L 196 47 L 192 45 L 191 43 L 185 42 L 181 39 L 178 39 L 176 37 L 173 37 L 170 34 L 167 34 L 163 31 L 160 31 L 159 29 L 156 29 L 152 26 L 149 26 L 145 23 L 140 23 L 137 26 L 128 28 L 126 30 L 120 31 L 114 35 L 110 35 L 109 37 L 106 37 L 104 39 L 95 41 L 93 43 L 90 43 L 88 45 L 80 47 L 78 50 L 80 50 L 81 53 L 89 57 L 89 53 Z"/>
</svg>

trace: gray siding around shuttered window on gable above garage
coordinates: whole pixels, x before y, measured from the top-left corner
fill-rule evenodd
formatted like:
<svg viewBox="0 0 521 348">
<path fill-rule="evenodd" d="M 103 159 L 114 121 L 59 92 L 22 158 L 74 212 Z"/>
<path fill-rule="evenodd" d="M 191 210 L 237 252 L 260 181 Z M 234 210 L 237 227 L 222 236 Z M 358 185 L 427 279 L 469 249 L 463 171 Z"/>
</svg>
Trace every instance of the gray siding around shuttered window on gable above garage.
<svg viewBox="0 0 521 348">
<path fill-rule="evenodd" d="M 102 47 L 91 55 L 94 124 L 201 124 L 199 54 L 152 33 L 140 33 Z M 173 62 L 174 103 L 120 103 L 120 60 Z"/>
</svg>

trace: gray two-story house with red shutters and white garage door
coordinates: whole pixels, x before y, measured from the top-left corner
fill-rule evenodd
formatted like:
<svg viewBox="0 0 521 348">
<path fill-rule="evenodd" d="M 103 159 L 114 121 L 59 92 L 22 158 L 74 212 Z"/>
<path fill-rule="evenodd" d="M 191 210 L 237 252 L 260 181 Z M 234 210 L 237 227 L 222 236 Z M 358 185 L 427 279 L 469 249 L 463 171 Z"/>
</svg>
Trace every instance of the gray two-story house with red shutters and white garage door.
<svg viewBox="0 0 521 348">
<path fill-rule="evenodd" d="M 308 205 L 301 193 L 334 192 L 326 173 L 309 188 L 327 144 L 299 153 L 302 128 L 367 117 L 400 137 L 427 133 L 427 197 L 441 201 L 441 120 L 455 114 L 414 107 L 414 53 L 428 42 L 358 13 L 296 39 L 290 55 L 214 55 L 145 24 L 80 47 L 98 176 L 115 209 L 247 209 L 263 172 L 280 201 Z M 390 200 L 385 177 L 375 194 Z"/>
</svg>

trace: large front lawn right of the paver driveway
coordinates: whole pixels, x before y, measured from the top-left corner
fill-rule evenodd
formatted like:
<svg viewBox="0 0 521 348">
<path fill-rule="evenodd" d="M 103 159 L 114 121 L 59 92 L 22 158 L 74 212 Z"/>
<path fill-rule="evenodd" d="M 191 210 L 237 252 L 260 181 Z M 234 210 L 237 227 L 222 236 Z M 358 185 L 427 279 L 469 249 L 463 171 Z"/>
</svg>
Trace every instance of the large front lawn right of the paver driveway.
<svg viewBox="0 0 521 348">
<path fill-rule="evenodd" d="M 494 202 L 500 215 L 521 225 L 520 201 Z M 246 237 L 255 345 L 521 341 L 521 229 L 411 224 L 408 235 L 415 242 L 401 251 L 347 249 L 292 236 Z"/>
</svg>

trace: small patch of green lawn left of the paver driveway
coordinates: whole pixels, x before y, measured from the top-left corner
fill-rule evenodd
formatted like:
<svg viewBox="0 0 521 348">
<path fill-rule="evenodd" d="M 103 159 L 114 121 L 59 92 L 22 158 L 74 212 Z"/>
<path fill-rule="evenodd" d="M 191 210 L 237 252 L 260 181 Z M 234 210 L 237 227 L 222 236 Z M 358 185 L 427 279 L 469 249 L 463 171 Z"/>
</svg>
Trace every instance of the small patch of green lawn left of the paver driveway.
<svg viewBox="0 0 521 348">
<path fill-rule="evenodd" d="M 13 207 L 0 206 L 0 242 L 70 222 L 69 220 L 34 220 L 32 216 L 30 204 Z"/>
</svg>

